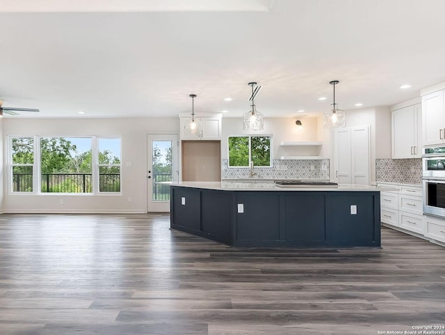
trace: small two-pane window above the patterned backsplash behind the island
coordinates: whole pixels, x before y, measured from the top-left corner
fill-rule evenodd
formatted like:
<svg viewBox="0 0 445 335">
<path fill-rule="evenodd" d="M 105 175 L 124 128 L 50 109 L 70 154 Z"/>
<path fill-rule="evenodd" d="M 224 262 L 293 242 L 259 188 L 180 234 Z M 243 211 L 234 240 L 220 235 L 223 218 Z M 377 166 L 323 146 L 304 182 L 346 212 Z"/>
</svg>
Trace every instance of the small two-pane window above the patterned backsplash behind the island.
<svg viewBox="0 0 445 335">
<path fill-rule="evenodd" d="M 270 136 L 229 137 L 229 166 L 271 166 Z"/>
</svg>

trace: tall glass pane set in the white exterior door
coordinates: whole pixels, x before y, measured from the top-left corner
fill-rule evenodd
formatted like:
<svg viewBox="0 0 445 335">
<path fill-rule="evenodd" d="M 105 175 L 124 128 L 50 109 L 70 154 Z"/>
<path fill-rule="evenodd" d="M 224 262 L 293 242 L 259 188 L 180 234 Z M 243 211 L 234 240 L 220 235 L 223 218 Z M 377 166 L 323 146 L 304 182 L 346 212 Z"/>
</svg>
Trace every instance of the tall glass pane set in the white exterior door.
<svg viewBox="0 0 445 335">
<path fill-rule="evenodd" d="M 172 181 L 172 141 L 153 141 L 152 200 L 169 201 L 170 188 L 158 182 Z"/>
</svg>

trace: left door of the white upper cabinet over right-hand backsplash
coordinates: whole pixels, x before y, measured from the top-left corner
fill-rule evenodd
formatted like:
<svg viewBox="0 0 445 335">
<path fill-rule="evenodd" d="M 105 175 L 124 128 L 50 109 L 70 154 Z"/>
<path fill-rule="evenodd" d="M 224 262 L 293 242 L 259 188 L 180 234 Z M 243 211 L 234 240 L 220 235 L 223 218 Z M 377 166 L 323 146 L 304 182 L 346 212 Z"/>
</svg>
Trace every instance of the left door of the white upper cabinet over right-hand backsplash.
<svg viewBox="0 0 445 335">
<path fill-rule="evenodd" d="M 414 106 L 392 111 L 392 158 L 414 157 L 414 135 L 417 123 Z"/>
</svg>

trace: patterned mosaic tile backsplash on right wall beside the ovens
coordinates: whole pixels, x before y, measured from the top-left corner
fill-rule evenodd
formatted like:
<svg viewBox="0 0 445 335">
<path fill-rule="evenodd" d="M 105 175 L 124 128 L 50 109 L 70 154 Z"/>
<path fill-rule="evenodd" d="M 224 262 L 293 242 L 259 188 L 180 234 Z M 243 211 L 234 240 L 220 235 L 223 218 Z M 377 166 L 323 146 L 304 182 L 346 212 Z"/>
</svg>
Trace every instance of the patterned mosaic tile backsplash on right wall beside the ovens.
<svg viewBox="0 0 445 335">
<path fill-rule="evenodd" d="M 375 159 L 375 180 L 378 182 L 421 184 L 422 159 Z"/>
</svg>

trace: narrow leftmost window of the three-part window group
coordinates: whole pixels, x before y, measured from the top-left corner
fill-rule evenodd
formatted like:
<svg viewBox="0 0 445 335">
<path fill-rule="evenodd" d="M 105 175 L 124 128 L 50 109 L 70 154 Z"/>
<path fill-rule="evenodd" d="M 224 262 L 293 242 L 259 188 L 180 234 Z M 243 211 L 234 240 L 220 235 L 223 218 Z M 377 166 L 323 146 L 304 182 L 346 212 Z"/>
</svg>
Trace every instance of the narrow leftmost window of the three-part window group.
<svg viewBox="0 0 445 335">
<path fill-rule="evenodd" d="M 33 192 L 34 139 L 15 137 L 11 141 L 13 192 Z"/>
</svg>

